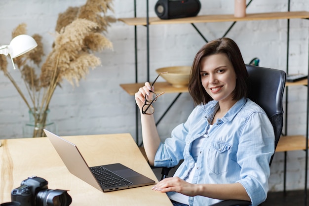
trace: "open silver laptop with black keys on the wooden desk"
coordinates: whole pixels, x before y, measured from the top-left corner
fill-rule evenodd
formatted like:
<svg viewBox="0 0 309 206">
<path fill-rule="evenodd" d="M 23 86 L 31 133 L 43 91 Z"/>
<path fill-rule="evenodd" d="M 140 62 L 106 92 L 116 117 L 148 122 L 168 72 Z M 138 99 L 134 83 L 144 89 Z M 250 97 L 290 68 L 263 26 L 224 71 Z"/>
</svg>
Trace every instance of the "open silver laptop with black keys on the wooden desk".
<svg viewBox="0 0 309 206">
<path fill-rule="evenodd" d="M 46 129 L 44 132 L 68 170 L 102 192 L 154 184 L 154 180 L 119 163 L 89 167 L 75 144 Z"/>
</svg>

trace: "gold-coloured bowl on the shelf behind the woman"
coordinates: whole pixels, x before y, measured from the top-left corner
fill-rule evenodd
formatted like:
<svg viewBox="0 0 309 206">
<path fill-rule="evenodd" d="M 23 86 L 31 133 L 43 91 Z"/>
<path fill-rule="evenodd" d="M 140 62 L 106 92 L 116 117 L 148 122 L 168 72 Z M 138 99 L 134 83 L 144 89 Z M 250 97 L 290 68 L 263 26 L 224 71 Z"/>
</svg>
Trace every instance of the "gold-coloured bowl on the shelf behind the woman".
<svg viewBox="0 0 309 206">
<path fill-rule="evenodd" d="M 161 74 L 161 77 L 174 87 L 186 87 L 189 84 L 191 66 L 162 67 L 155 71 L 158 74 L 168 72 L 166 74 Z"/>
</svg>

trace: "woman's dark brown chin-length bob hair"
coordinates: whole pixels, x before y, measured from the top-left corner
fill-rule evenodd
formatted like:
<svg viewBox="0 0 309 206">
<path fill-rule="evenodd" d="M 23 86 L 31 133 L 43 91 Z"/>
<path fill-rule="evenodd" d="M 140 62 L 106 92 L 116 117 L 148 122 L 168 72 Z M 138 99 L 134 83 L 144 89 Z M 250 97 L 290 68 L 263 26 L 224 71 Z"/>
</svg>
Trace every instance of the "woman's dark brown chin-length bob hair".
<svg viewBox="0 0 309 206">
<path fill-rule="evenodd" d="M 248 72 L 237 44 L 229 38 L 221 38 L 206 43 L 195 55 L 189 78 L 189 92 L 194 104 L 207 104 L 213 100 L 205 91 L 200 77 L 200 65 L 203 57 L 213 54 L 226 54 L 233 65 L 236 74 L 236 86 L 233 91 L 233 100 L 247 96 Z"/>
</svg>

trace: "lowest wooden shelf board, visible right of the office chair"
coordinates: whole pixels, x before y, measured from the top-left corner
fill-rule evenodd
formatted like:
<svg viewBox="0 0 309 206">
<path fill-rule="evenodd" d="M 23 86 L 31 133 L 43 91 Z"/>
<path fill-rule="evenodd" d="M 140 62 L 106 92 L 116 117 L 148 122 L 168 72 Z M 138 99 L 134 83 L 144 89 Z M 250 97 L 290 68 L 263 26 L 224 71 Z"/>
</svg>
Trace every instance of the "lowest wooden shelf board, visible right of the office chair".
<svg viewBox="0 0 309 206">
<path fill-rule="evenodd" d="M 281 136 L 276 152 L 306 150 L 306 137 L 303 135 Z"/>
</svg>

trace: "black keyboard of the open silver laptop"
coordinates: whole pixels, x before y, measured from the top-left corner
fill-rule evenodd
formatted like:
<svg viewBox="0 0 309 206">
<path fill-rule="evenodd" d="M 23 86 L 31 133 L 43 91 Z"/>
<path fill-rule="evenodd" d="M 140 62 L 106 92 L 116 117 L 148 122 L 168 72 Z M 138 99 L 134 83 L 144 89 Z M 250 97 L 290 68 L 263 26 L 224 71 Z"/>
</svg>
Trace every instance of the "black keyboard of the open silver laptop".
<svg viewBox="0 0 309 206">
<path fill-rule="evenodd" d="M 103 166 L 90 167 L 90 170 L 98 182 L 105 187 L 119 187 L 132 184 L 132 182 L 123 179 Z"/>
</svg>

